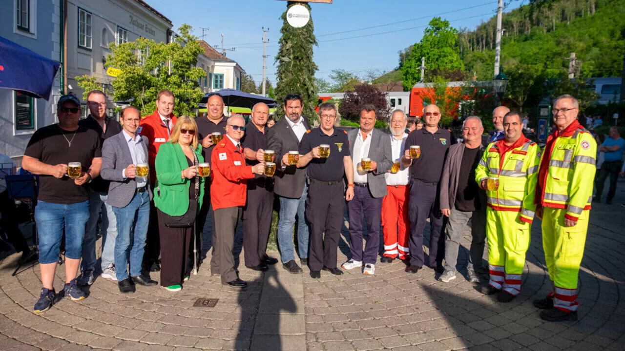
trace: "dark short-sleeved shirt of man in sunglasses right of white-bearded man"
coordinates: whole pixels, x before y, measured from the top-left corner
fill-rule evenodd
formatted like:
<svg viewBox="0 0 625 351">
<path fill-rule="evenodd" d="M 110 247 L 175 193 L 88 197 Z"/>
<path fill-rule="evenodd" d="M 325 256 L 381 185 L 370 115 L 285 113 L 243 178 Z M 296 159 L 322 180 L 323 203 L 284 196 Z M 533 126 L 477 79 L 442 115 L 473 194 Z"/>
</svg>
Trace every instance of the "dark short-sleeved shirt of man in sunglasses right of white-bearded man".
<svg viewBox="0 0 625 351">
<path fill-rule="evenodd" d="M 439 182 L 445 156 L 452 141 L 451 132 L 443 128 L 434 133 L 427 131 L 425 127 L 411 132 L 406 138 L 404 151 L 413 145 L 421 146 L 421 157 L 412 160 L 410 166 L 411 178 L 428 183 Z"/>
</svg>

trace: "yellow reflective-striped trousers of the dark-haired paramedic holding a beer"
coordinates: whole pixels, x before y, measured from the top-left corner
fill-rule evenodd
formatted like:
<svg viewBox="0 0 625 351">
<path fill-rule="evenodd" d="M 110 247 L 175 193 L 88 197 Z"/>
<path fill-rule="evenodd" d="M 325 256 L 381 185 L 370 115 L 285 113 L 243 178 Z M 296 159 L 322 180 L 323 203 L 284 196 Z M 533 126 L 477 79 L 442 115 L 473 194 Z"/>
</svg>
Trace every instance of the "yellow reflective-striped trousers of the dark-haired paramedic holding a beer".
<svg viewBox="0 0 625 351">
<path fill-rule="evenodd" d="M 489 284 L 511 295 L 521 292 L 521 274 L 529 247 L 529 223 L 519 220 L 519 212 L 486 210 Z"/>
</svg>

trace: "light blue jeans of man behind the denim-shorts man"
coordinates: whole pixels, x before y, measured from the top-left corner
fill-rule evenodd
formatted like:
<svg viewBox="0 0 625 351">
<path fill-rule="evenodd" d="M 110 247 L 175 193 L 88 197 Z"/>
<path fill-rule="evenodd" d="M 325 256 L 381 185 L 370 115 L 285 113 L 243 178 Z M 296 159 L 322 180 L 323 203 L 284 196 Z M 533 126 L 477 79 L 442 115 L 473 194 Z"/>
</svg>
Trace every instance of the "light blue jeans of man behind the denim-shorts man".
<svg viewBox="0 0 625 351">
<path fill-rule="evenodd" d="M 117 237 L 117 223 L 113 207 L 106 204 L 106 192 L 89 192 L 89 208 L 91 214 L 84 232 L 83 262 L 81 270 L 93 270 L 96 265 L 96 224 L 102 210 L 102 262 L 104 270 L 115 260 L 115 238 Z"/>
</svg>

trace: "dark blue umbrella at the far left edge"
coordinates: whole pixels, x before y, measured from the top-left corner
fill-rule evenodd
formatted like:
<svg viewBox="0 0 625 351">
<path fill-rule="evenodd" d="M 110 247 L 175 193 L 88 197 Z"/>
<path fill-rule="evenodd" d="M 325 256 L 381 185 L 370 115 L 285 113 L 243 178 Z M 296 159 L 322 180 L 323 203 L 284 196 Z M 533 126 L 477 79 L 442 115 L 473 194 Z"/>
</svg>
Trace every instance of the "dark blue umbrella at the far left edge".
<svg viewBox="0 0 625 351">
<path fill-rule="evenodd" d="M 59 67 L 59 62 L 0 37 L 0 88 L 47 100 Z"/>
</svg>

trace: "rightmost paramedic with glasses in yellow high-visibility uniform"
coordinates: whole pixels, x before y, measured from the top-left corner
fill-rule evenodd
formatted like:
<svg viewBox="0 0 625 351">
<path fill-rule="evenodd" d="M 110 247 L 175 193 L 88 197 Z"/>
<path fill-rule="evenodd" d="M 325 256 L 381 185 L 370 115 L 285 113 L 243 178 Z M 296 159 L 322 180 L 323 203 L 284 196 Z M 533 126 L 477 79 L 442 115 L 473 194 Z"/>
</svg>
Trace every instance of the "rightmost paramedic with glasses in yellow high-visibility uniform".
<svg viewBox="0 0 625 351">
<path fill-rule="evenodd" d="M 537 217 L 552 292 L 534 301 L 541 318 L 577 320 L 577 278 L 584 255 L 597 144 L 577 122 L 579 102 L 563 95 L 553 106 L 554 131 L 542 153 L 536 185 Z"/>
</svg>

